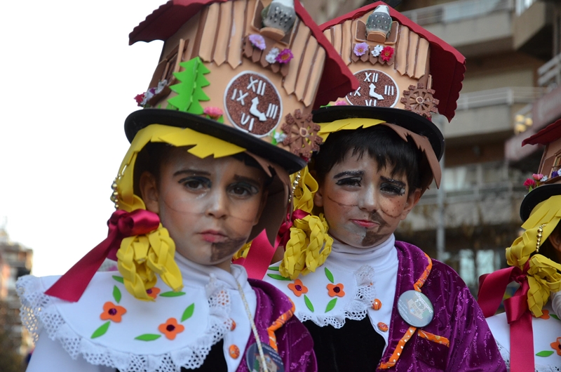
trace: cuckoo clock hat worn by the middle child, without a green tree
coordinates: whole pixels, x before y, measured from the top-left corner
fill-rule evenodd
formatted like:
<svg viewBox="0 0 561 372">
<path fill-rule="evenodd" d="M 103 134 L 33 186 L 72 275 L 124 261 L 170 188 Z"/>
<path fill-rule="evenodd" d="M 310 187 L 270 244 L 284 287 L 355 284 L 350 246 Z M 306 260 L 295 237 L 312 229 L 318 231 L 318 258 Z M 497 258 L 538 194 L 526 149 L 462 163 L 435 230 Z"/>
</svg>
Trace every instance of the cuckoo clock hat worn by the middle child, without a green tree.
<svg viewBox="0 0 561 372">
<path fill-rule="evenodd" d="M 400 126 L 405 131 L 398 133 L 412 138 L 426 154 L 438 185 L 444 137 L 431 116 L 438 112 L 449 121 L 454 117 L 466 71 L 464 56 L 382 1 L 320 29 L 360 84 L 335 105 L 314 112 L 313 120 L 322 126 L 320 134 L 325 138 L 333 131 L 377 121 Z M 351 123 L 354 118 L 373 120 Z"/>
</svg>

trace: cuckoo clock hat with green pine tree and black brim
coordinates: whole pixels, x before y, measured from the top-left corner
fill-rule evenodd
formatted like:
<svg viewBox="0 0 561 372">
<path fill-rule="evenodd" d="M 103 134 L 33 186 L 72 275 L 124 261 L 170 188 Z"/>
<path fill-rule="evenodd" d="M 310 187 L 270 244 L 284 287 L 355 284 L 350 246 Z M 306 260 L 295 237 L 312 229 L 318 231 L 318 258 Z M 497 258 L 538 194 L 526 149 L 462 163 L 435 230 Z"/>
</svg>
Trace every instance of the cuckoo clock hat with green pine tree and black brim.
<svg viewBox="0 0 561 372">
<path fill-rule="evenodd" d="M 312 108 L 357 87 L 298 0 L 170 0 L 129 40 L 164 41 L 130 141 L 150 124 L 191 128 L 292 173 L 322 141 Z"/>
</svg>

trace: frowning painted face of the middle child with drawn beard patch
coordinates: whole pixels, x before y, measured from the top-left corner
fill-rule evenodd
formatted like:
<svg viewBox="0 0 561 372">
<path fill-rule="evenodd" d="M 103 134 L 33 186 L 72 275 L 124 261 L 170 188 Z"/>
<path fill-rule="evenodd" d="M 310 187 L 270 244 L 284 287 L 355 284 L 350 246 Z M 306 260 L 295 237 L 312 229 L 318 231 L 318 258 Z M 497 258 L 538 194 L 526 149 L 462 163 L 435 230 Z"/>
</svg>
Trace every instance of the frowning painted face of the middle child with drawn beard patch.
<svg viewBox="0 0 561 372">
<path fill-rule="evenodd" d="M 377 171 L 367 153 L 351 154 L 320 180 L 313 201 L 323 207 L 332 237 L 357 248 L 376 246 L 396 231 L 421 192 L 409 195 L 405 175 L 392 176 L 388 168 Z"/>
</svg>

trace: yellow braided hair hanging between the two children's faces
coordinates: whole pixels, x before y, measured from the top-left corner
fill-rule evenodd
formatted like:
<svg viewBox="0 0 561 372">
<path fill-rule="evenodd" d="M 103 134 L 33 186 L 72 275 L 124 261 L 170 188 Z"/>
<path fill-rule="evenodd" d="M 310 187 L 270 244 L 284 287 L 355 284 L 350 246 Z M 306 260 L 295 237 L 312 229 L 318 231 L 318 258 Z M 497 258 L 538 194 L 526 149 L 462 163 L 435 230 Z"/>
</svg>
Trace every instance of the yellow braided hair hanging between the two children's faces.
<svg viewBox="0 0 561 372">
<path fill-rule="evenodd" d="M 279 273 L 283 277 L 296 279 L 299 274 L 306 275 L 316 271 L 325 263 L 331 253 L 333 239 L 327 234 L 327 221 L 320 215 L 312 215 L 313 195 L 318 191 L 318 182 L 306 166 L 300 171 L 300 181 L 294 190 L 294 209 L 310 213 L 301 220 L 295 220 L 290 227 L 290 239 L 285 246 L 285 254 L 280 263 Z M 290 176 L 295 182 L 297 174 Z"/>
</svg>

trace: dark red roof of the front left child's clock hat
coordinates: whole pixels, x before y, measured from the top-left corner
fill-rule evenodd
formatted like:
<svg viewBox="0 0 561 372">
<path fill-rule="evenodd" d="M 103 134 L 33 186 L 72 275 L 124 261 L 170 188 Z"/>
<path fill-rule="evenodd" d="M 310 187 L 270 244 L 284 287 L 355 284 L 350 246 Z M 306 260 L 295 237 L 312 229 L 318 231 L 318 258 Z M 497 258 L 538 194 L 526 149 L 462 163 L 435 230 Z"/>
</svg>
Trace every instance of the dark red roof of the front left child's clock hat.
<svg viewBox="0 0 561 372">
<path fill-rule="evenodd" d="M 230 0 L 170 0 L 148 15 L 133 29 L 133 32 L 130 32 L 128 44 L 133 45 L 137 41 L 165 41 L 204 6 L 225 1 Z M 318 108 L 320 105 L 327 105 L 328 102 L 356 90 L 358 80 L 346 67 L 341 56 L 334 50 L 302 4 L 298 0 L 295 0 L 294 3 L 296 14 L 304 25 L 311 29 L 311 33 L 326 52 L 325 67 L 314 102 L 314 108 Z"/>
</svg>

